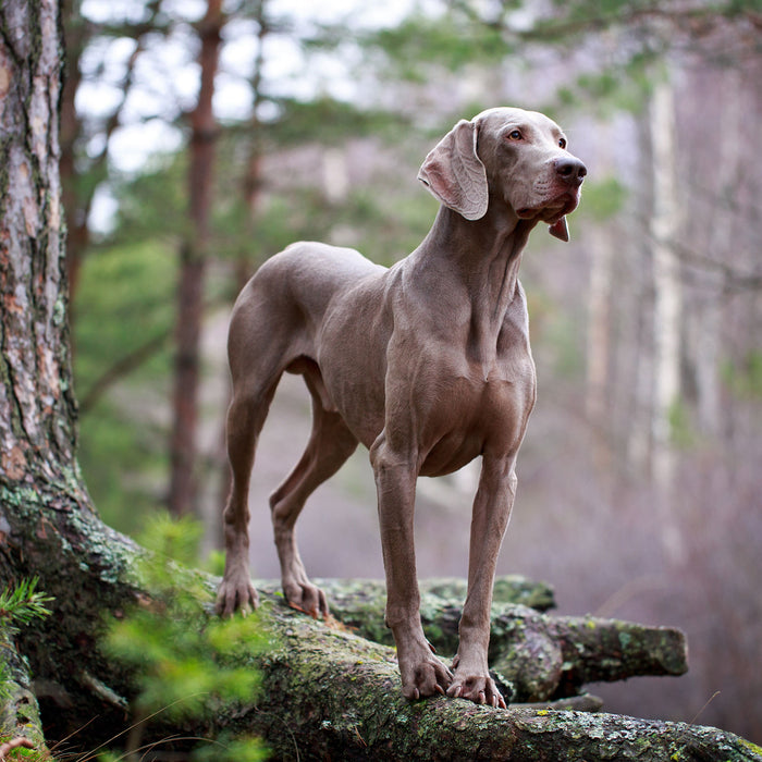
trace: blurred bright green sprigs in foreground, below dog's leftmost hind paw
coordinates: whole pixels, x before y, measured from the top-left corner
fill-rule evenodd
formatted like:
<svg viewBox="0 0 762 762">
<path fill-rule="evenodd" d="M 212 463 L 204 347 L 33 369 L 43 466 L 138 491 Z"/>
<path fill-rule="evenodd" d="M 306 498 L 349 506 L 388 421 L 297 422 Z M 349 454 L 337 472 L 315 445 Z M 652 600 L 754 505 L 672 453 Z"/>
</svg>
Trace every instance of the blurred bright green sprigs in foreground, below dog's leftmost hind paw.
<svg viewBox="0 0 762 762">
<path fill-rule="evenodd" d="M 233 702 L 255 701 L 259 691 L 254 657 L 268 644 L 261 619 L 220 619 L 204 604 L 204 578 L 180 565 L 196 562 L 200 536 L 194 519 L 151 518 L 139 538 L 150 553 L 138 568 L 150 599 L 108 627 L 106 652 L 136 674 L 138 721 L 156 714 L 204 720 Z M 213 759 L 262 759 L 261 746 L 249 740 L 214 742 L 213 749 Z"/>
</svg>

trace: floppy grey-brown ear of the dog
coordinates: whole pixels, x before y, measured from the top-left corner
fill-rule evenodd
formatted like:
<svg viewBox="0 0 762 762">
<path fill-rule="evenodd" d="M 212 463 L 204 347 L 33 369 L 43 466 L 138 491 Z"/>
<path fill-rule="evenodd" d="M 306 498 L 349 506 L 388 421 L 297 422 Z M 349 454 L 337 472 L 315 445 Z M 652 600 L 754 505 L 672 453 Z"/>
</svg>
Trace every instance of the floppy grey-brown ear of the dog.
<svg viewBox="0 0 762 762">
<path fill-rule="evenodd" d="M 429 152 L 418 180 L 445 207 L 478 220 L 487 213 L 487 171 L 477 156 L 477 125 L 462 119 Z"/>
</svg>

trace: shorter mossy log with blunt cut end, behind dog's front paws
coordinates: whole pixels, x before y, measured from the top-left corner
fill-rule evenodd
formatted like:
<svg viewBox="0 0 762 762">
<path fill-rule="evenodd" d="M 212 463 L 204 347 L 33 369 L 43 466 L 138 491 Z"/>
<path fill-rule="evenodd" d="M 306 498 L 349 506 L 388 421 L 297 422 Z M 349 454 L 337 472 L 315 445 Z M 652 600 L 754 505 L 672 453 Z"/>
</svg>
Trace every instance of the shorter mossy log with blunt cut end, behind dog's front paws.
<svg viewBox="0 0 762 762">
<path fill-rule="evenodd" d="M 384 626 L 382 581 L 322 579 L 318 583 L 340 622 L 369 640 L 394 646 Z M 550 586 L 519 576 L 501 577 L 495 586 L 490 665 L 514 701 L 566 699 L 579 695 L 589 683 L 681 675 L 688 669 L 685 636 L 677 629 L 591 616 L 548 616 L 534 607 L 553 605 Z M 278 582 L 260 587 L 279 594 Z M 465 581 L 425 580 L 420 587 L 427 637 L 440 654 L 453 655 Z"/>
</svg>

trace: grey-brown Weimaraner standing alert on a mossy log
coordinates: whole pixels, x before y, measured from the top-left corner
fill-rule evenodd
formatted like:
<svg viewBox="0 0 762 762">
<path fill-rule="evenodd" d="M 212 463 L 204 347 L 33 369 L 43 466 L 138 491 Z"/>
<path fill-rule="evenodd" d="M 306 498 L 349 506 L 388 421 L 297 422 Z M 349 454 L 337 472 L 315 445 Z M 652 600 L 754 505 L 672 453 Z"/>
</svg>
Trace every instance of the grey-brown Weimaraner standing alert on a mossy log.
<svg viewBox="0 0 762 762">
<path fill-rule="evenodd" d="M 427 156 L 418 176 L 442 206 L 408 257 L 386 269 L 349 248 L 297 243 L 262 265 L 238 296 L 228 343 L 233 488 L 221 614 L 258 604 L 248 573 L 251 465 L 283 371 L 300 373 L 312 397 L 312 432 L 270 497 L 286 600 L 312 616 L 328 614 L 294 525 L 309 494 L 362 442 L 378 490 L 385 618 L 404 696 L 446 692 L 505 706 L 487 665 L 492 585 L 536 396 L 518 267 L 539 222 L 568 241 L 565 216 L 577 207 L 586 174 L 550 119 L 490 109 L 460 120 Z M 479 455 L 468 594 L 451 672 L 420 623 L 416 479 L 452 474 Z"/>
</svg>

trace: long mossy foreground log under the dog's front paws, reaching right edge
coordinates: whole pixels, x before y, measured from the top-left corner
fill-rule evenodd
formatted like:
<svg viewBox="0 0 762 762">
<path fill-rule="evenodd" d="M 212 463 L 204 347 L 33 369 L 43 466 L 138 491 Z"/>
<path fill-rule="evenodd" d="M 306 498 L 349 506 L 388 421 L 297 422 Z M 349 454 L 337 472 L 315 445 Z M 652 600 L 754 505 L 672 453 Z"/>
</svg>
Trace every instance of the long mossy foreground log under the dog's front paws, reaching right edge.
<svg viewBox="0 0 762 762">
<path fill-rule="evenodd" d="M 762 749 L 710 727 L 548 708 L 406 701 L 394 651 L 268 595 L 275 647 L 254 659 L 257 708 L 231 727 L 256 729 L 282 760 L 762 760 Z"/>
</svg>

